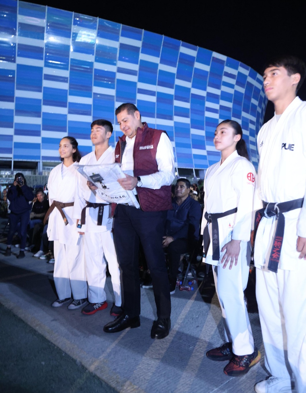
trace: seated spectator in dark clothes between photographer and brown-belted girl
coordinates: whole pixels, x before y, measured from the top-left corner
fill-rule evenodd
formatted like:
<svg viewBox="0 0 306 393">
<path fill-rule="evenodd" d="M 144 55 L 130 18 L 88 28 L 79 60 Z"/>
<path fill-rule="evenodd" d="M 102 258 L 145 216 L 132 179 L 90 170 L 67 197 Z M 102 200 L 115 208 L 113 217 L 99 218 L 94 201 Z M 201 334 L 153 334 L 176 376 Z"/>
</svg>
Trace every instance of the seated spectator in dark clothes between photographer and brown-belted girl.
<svg viewBox="0 0 306 393">
<path fill-rule="evenodd" d="M 42 229 L 44 227 L 43 220 L 49 209 L 49 202 L 45 198 L 44 190 L 38 188 L 36 197 L 33 201 L 32 211 L 30 213 L 30 221 L 28 225 L 30 247 L 29 249 L 39 250 Z"/>
</svg>

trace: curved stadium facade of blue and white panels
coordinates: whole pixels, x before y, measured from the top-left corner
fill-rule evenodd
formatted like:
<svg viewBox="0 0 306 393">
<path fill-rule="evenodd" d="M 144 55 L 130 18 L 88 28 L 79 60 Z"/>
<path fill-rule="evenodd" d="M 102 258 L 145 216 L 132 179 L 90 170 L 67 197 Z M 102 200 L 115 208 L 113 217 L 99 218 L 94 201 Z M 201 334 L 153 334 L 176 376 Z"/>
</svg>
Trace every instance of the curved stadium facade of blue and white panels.
<svg viewBox="0 0 306 393">
<path fill-rule="evenodd" d="M 0 160 L 58 162 L 74 136 L 92 150 L 90 123 L 114 126 L 115 108 L 137 105 L 142 121 L 166 130 L 178 168 L 220 159 L 218 123 L 242 125 L 257 166 L 255 138 L 266 107 L 262 77 L 245 64 L 186 42 L 16 0 L 0 0 Z"/>
</svg>

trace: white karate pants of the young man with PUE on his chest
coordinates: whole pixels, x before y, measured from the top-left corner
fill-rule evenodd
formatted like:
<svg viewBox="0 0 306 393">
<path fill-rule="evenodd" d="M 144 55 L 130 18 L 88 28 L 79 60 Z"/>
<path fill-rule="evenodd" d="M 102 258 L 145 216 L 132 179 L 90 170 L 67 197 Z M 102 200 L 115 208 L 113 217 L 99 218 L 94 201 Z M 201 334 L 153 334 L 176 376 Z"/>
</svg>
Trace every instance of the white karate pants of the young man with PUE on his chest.
<svg viewBox="0 0 306 393">
<path fill-rule="evenodd" d="M 256 298 L 265 365 L 271 375 L 295 380 L 306 392 L 305 261 L 297 270 L 256 269 Z"/>
</svg>

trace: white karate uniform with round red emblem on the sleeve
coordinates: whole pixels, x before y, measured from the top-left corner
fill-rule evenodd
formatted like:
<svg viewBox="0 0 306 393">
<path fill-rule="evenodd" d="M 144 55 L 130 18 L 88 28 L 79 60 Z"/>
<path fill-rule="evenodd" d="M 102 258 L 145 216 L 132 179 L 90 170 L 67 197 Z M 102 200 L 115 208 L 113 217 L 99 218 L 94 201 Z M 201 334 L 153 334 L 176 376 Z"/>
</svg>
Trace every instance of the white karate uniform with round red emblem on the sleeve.
<svg viewBox="0 0 306 393">
<path fill-rule="evenodd" d="M 223 213 L 235 209 L 237 213 L 218 219 L 220 259 L 212 259 L 212 233 L 209 224 L 210 244 L 205 250 L 204 262 L 213 265 L 215 286 L 222 309 L 224 334 L 228 342 L 232 343 L 233 353 L 242 356 L 254 352 L 254 340 L 250 320 L 244 301 L 244 289 L 248 283 L 250 257 L 251 222 L 253 214 L 253 193 L 255 189 L 255 168 L 244 157 L 233 152 L 220 165 L 215 163 L 208 168 L 204 179 L 204 212 L 202 231 L 207 224 L 205 212 Z M 229 270 L 220 264 L 224 253 L 224 244 L 234 240 L 241 240 L 237 266 Z M 205 245 L 204 245 L 205 246 Z M 250 252 L 248 252 L 250 255 Z"/>
</svg>

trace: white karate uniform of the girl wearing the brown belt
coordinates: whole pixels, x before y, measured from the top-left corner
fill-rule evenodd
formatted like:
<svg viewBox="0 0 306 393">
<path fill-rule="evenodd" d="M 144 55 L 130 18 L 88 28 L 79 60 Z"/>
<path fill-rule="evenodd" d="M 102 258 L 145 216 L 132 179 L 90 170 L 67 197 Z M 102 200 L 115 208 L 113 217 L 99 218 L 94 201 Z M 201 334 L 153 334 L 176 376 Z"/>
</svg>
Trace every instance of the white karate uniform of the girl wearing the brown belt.
<svg viewBox="0 0 306 393">
<path fill-rule="evenodd" d="M 49 204 L 73 202 L 77 171 L 76 163 L 65 167 L 63 163 L 52 169 L 48 179 Z M 60 300 L 87 298 L 87 284 L 84 267 L 84 248 L 81 236 L 76 231 L 76 222 L 72 219 L 73 206 L 63 208 L 68 224 L 55 208 L 49 216 L 47 235 L 54 241 L 54 283 Z"/>
</svg>

